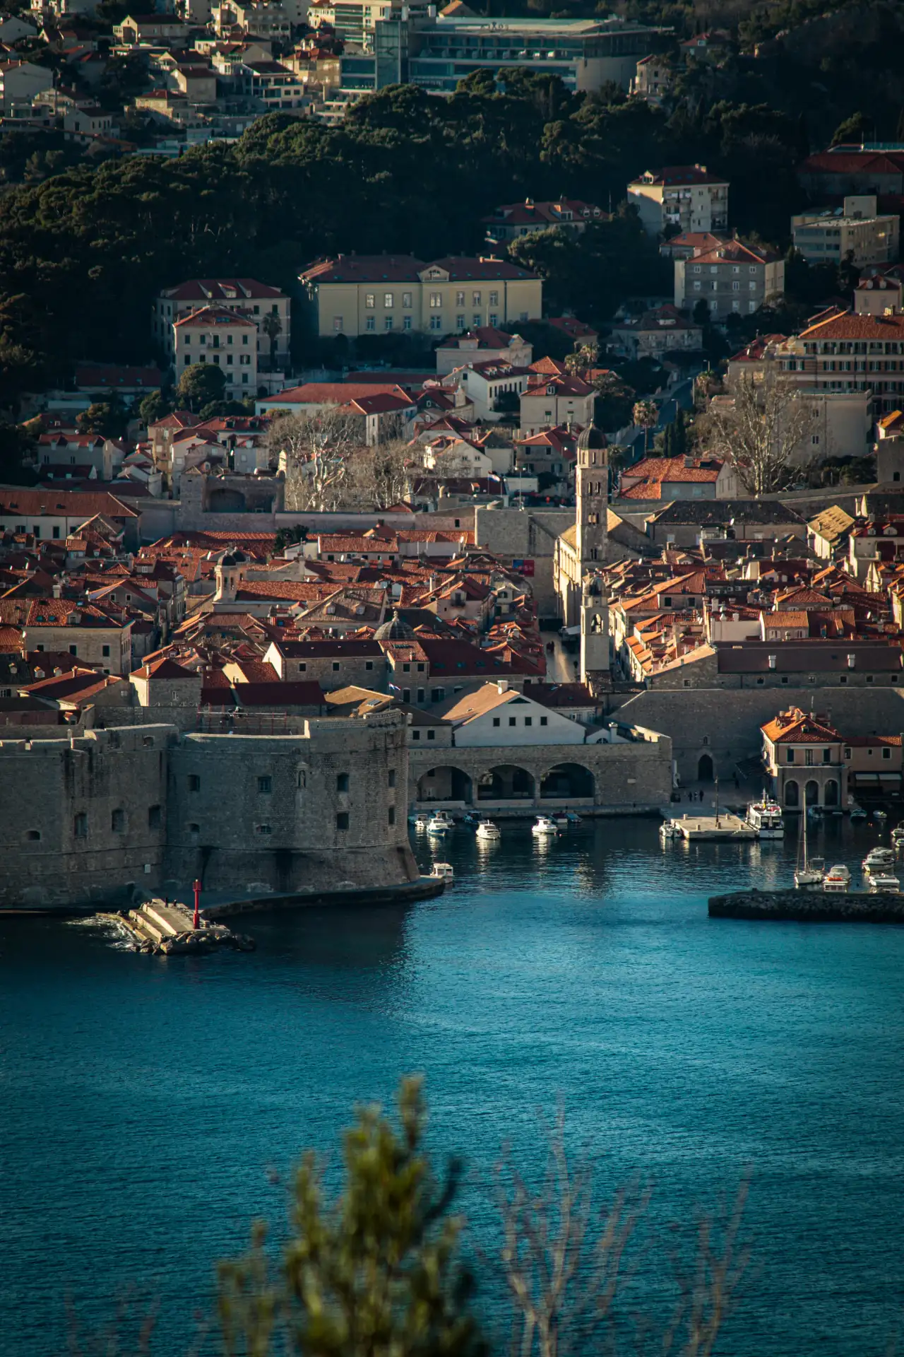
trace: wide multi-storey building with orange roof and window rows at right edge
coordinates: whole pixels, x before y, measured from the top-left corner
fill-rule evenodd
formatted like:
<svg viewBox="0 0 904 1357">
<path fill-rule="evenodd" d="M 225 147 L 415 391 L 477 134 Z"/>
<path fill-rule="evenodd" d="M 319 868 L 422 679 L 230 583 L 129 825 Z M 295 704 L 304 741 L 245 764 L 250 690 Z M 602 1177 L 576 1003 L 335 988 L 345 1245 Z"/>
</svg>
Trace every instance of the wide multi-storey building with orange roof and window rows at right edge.
<svg viewBox="0 0 904 1357">
<path fill-rule="evenodd" d="M 782 370 L 816 391 L 871 392 L 886 414 L 904 399 L 904 315 L 846 311 L 817 320 L 778 345 Z"/>
</svg>

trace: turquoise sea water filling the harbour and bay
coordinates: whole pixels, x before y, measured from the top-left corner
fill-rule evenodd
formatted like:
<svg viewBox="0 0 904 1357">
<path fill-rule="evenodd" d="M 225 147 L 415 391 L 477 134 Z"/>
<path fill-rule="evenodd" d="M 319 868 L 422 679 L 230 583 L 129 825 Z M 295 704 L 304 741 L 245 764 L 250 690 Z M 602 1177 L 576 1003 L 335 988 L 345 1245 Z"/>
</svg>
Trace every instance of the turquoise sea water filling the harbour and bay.
<svg viewBox="0 0 904 1357">
<path fill-rule="evenodd" d="M 455 830 L 438 901 L 249 920 L 253 955 L 141 957 L 96 927 L 0 919 L 5 1357 L 57 1357 L 66 1296 L 92 1329 L 130 1285 L 159 1304 L 159 1350 L 186 1352 L 215 1258 L 285 1213 L 268 1170 L 333 1147 L 405 1071 L 426 1075 L 432 1147 L 466 1156 L 484 1242 L 500 1147 L 537 1168 L 538 1109 L 561 1096 L 569 1144 L 609 1183 L 651 1177 L 660 1224 L 751 1166 L 755 1270 L 720 1352 L 886 1352 L 904 930 L 707 919 L 716 890 L 789 883 L 793 837 L 663 849 L 640 818 L 548 848 L 527 822 L 503 833 L 481 849 Z M 878 837 L 820 833 L 851 867 Z"/>
</svg>

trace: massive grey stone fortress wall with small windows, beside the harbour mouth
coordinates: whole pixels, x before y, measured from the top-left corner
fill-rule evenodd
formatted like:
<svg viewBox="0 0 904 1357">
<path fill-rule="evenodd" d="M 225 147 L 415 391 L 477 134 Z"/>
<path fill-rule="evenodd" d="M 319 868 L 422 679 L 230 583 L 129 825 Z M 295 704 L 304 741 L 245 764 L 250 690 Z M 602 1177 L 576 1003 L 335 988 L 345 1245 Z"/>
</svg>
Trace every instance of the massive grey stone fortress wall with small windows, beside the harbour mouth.
<svg viewBox="0 0 904 1357">
<path fill-rule="evenodd" d="M 0 909 L 122 905 L 194 877 L 240 894 L 412 881 L 405 734 L 392 711 L 276 738 L 0 740 Z"/>
</svg>

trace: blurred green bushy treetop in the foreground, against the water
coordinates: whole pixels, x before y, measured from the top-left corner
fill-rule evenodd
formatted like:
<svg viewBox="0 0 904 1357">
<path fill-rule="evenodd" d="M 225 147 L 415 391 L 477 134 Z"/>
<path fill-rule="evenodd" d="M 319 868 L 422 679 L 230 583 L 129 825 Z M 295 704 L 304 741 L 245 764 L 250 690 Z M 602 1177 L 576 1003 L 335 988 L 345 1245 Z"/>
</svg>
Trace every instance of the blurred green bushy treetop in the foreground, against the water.
<svg viewBox="0 0 904 1357">
<path fill-rule="evenodd" d="M 363 1107 L 344 1137 L 344 1187 L 329 1201 L 313 1153 L 295 1174 L 291 1236 L 276 1276 L 258 1227 L 251 1254 L 220 1267 L 228 1357 L 482 1357 L 472 1278 L 450 1215 L 459 1177 L 438 1186 L 423 1148 L 420 1084 L 398 1094 L 398 1128 Z"/>
</svg>

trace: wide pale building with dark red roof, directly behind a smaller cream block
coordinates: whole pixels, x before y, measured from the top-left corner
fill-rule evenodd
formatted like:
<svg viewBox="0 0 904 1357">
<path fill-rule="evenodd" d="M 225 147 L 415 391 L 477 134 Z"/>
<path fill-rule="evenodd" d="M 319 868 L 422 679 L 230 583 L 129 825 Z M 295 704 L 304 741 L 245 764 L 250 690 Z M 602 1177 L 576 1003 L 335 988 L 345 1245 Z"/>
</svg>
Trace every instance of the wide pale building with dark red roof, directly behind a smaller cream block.
<svg viewBox="0 0 904 1357">
<path fill-rule="evenodd" d="M 275 343 L 278 368 L 289 362 L 291 338 L 291 304 L 289 297 L 256 278 L 190 278 L 175 288 L 164 288 L 153 304 L 153 339 L 172 362 L 176 353 L 173 322 L 191 311 L 217 307 L 233 311 L 258 327 L 258 351 L 262 366 L 267 366 L 271 343 Z M 266 320 L 275 316 L 279 330 Z"/>
</svg>

